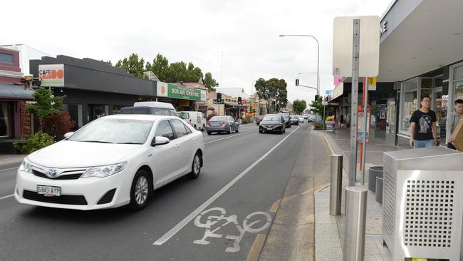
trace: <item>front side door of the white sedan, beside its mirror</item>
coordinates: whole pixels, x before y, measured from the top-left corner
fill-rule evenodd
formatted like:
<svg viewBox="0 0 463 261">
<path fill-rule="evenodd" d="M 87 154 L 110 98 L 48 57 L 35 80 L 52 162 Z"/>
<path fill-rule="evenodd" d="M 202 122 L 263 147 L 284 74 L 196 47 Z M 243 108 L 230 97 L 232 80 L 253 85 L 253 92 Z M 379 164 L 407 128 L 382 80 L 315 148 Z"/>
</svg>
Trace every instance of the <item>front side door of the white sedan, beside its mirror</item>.
<svg viewBox="0 0 463 261">
<path fill-rule="evenodd" d="M 157 185 L 169 179 L 172 173 L 178 172 L 175 158 L 180 156 L 180 152 L 175 148 L 175 143 L 173 142 L 175 140 L 175 133 L 168 120 L 160 121 L 156 127 L 155 136 L 162 136 L 170 140 L 170 143 L 151 148 L 152 160 L 154 162 L 153 170 L 155 170 L 154 185 Z"/>
</svg>

